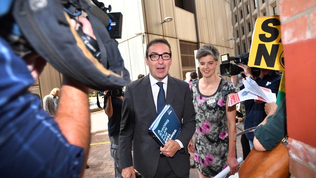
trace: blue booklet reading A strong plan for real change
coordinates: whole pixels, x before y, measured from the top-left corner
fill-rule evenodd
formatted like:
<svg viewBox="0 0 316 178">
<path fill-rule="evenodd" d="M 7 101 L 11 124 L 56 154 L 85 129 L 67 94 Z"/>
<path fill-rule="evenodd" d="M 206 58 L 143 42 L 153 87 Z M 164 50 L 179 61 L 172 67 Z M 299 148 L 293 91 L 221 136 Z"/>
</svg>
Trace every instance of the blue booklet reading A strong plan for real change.
<svg viewBox="0 0 316 178">
<path fill-rule="evenodd" d="M 166 105 L 162 109 L 148 130 L 161 147 L 170 140 L 176 140 L 181 131 L 181 124 L 171 105 Z"/>
</svg>

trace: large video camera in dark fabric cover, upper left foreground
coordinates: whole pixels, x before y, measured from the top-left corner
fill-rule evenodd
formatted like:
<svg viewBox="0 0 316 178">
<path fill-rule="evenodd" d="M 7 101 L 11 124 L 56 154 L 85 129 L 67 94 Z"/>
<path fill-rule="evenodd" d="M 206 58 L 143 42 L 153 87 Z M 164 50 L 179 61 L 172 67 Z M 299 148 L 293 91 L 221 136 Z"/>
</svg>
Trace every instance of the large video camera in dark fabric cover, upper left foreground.
<svg viewBox="0 0 316 178">
<path fill-rule="evenodd" d="M 95 5 L 90 0 L 14 0 L 10 11 L 0 18 L 6 24 L 0 35 L 13 34 L 14 41 L 5 38 L 10 44 L 16 42 L 16 49 L 25 46 L 21 57 L 28 51 L 36 52 L 57 71 L 91 89 L 122 88 L 130 77 L 113 38 L 121 38 L 123 16 L 107 13 L 110 6 L 93 2 Z M 83 11 L 96 40 L 85 34 L 77 21 Z M 75 30 L 71 18 L 77 21 Z M 20 42 L 21 38 L 25 43 Z"/>
</svg>

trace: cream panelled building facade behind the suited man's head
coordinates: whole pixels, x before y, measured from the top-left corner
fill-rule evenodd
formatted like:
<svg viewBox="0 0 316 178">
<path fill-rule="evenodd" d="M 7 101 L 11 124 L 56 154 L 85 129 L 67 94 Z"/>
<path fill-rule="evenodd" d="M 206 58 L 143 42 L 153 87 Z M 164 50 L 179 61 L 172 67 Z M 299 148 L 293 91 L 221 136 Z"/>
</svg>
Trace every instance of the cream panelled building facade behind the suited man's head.
<svg viewBox="0 0 316 178">
<path fill-rule="evenodd" d="M 233 37 L 229 0 L 99 1 L 106 7 L 110 4 L 111 12 L 123 14 L 122 38 L 118 41 L 131 80 L 149 73 L 144 59 L 146 45 L 155 38 L 165 38 L 171 44 L 170 75 L 182 80 L 186 72 L 196 70 L 194 50 L 200 46 L 210 43 L 222 54 L 234 54 L 234 42 L 229 40 Z M 172 20 L 163 22 L 167 17 Z M 32 92 L 44 97 L 51 89 L 61 87 L 61 81 L 62 75 L 48 64 Z"/>
</svg>

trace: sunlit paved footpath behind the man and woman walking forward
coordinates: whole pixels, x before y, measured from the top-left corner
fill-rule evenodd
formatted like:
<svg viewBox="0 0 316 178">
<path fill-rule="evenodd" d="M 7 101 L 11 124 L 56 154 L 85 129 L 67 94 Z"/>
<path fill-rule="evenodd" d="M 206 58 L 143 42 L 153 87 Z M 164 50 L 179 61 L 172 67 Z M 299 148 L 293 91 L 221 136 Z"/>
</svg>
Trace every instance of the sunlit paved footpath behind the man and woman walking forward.
<svg viewBox="0 0 316 178">
<path fill-rule="evenodd" d="M 240 138 L 237 139 L 237 155 L 243 156 Z M 193 159 L 193 155 L 191 158 Z M 103 110 L 91 113 L 91 144 L 88 165 L 89 168 L 86 169 L 84 178 L 114 178 L 114 164 L 109 150 L 107 116 Z M 196 168 L 191 168 L 190 178 L 198 178 Z"/>
</svg>

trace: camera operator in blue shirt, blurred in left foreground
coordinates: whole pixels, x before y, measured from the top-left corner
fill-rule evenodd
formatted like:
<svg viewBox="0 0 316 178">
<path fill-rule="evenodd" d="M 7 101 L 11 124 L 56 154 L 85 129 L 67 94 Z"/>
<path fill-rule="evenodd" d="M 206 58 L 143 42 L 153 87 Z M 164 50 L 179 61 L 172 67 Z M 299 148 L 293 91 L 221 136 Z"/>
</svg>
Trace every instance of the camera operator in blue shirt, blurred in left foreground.
<svg viewBox="0 0 316 178">
<path fill-rule="evenodd" d="M 2 17 L 10 15 L 12 4 L 1 1 L 1 24 L 8 23 Z M 88 19 L 78 20 L 94 36 Z M 88 87 L 64 76 L 56 115 L 49 116 L 28 90 L 46 61 L 35 52 L 16 55 L 7 37 L 1 33 L 0 177 L 82 177 L 90 143 Z"/>
</svg>

